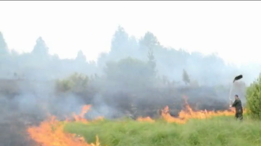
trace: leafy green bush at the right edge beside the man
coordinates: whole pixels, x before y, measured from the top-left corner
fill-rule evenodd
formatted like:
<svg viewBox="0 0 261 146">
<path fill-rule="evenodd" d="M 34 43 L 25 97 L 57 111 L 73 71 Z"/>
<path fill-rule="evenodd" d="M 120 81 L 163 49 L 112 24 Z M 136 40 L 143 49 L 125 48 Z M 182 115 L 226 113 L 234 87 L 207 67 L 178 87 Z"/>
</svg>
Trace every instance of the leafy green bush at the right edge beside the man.
<svg viewBox="0 0 261 146">
<path fill-rule="evenodd" d="M 247 113 L 251 118 L 261 119 L 261 73 L 247 88 Z"/>
</svg>

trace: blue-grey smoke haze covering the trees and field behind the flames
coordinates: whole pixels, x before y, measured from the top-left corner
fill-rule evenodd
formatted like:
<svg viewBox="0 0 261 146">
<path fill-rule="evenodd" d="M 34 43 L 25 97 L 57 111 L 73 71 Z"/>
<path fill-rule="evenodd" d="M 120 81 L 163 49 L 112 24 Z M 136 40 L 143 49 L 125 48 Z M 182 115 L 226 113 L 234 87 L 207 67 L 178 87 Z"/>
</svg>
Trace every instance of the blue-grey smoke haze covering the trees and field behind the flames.
<svg viewBox="0 0 261 146">
<path fill-rule="evenodd" d="M 93 106 L 88 119 L 156 117 L 167 105 L 177 115 L 184 97 L 194 109 L 224 110 L 233 78 L 243 75 L 232 95 L 245 101 L 244 82 L 252 82 L 260 69 L 231 66 L 215 54 L 164 47 L 151 32 L 141 39 L 130 37 L 120 26 L 110 52 L 101 53 L 96 62 L 87 62 L 81 50 L 75 59 L 50 55 L 42 37 L 30 53 L 19 54 L 8 48 L 0 33 L 0 52 L 0 129 L 10 133 L 0 135 L 4 146 L 23 145 L 18 138 L 6 140 L 13 133 L 12 126 L 6 126 L 10 121 L 22 130 L 49 114 L 61 120 L 79 114 L 86 104 Z"/>
</svg>

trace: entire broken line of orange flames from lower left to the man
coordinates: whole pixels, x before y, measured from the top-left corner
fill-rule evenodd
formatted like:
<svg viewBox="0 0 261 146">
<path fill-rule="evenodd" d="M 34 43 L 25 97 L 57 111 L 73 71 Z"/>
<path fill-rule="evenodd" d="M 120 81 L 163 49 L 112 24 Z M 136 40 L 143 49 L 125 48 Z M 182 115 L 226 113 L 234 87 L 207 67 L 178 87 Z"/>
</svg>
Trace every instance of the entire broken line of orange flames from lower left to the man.
<svg viewBox="0 0 261 146">
<path fill-rule="evenodd" d="M 73 115 L 75 121 L 80 121 L 84 123 L 88 123 L 87 119 L 84 118 L 84 114 L 91 108 L 91 105 L 83 106 L 81 110 L 81 114 Z M 179 124 L 186 123 L 189 119 L 206 119 L 213 116 L 221 116 L 221 115 L 234 115 L 235 110 L 231 108 L 226 111 L 193 111 L 191 107 L 186 102 L 186 109 L 180 111 L 178 118 L 172 117 L 169 114 L 168 106 L 166 106 L 162 112 L 161 116 L 167 122 L 176 122 Z M 98 117 L 96 120 L 102 120 L 103 117 Z M 88 144 L 83 137 L 76 138 L 75 134 L 64 133 L 63 127 L 69 122 L 69 119 L 66 119 L 64 122 L 59 122 L 55 120 L 54 116 L 51 116 L 51 119 L 46 120 L 40 123 L 38 127 L 30 127 L 28 128 L 28 133 L 30 137 L 42 144 L 42 146 L 100 146 L 99 139 L 96 136 L 96 143 Z M 137 121 L 140 122 L 155 122 L 150 117 L 142 118 L 139 117 Z"/>
</svg>

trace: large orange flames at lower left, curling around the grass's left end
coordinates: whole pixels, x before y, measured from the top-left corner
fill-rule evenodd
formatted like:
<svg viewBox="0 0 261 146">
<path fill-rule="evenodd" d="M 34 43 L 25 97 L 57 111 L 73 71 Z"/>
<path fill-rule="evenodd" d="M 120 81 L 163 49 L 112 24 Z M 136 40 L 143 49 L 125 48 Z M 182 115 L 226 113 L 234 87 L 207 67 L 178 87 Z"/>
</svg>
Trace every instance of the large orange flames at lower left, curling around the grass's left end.
<svg viewBox="0 0 261 146">
<path fill-rule="evenodd" d="M 84 119 L 84 114 L 91 108 L 90 105 L 85 105 L 80 115 L 74 114 L 75 121 L 87 122 Z M 103 119 L 99 117 L 98 120 Z M 42 146 L 100 146 L 99 139 L 96 136 L 96 143 L 88 144 L 83 137 L 76 137 L 75 134 L 64 133 L 63 127 L 68 122 L 59 122 L 55 119 L 55 116 L 51 116 L 51 119 L 43 121 L 39 126 L 29 127 L 28 133 L 30 137 Z"/>
</svg>

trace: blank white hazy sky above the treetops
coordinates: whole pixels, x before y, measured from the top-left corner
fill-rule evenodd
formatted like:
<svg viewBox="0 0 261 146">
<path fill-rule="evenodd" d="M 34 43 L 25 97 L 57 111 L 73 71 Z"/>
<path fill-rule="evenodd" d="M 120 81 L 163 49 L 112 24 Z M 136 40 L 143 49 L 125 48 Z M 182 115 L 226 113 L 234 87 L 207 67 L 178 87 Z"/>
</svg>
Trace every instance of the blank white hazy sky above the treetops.
<svg viewBox="0 0 261 146">
<path fill-rule="evenodd" d="M 151 31 L 175 49 L 261 62 L 260 1 L 0 1 L 0 31 L 19 52 L 42 36 L 51 54 L 74 58 L 81 49 L 96 60 L 118 25 L 138 38 Z"/>
</svg>

